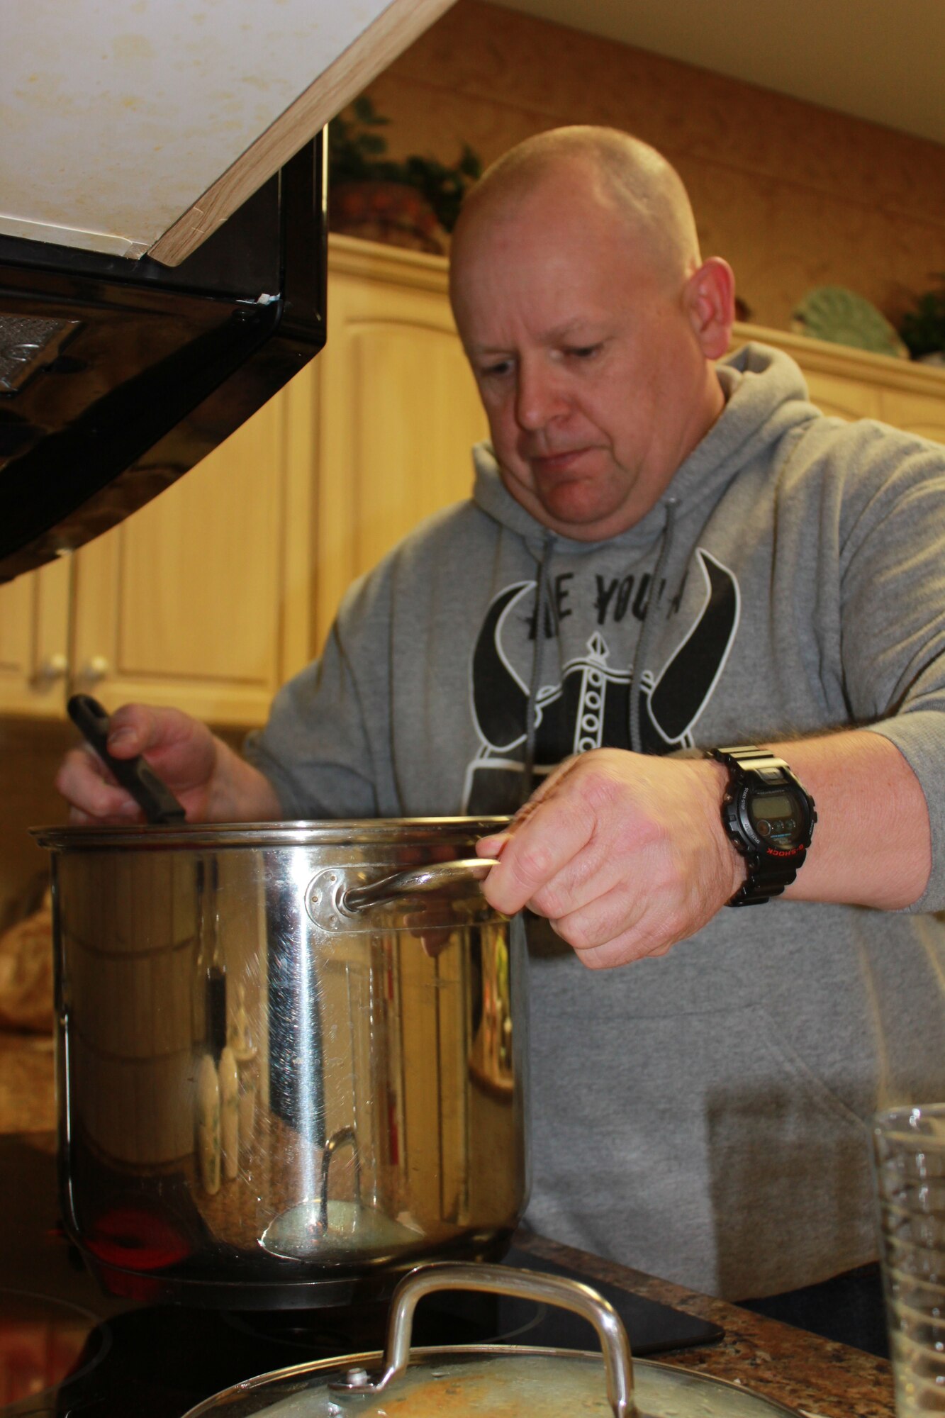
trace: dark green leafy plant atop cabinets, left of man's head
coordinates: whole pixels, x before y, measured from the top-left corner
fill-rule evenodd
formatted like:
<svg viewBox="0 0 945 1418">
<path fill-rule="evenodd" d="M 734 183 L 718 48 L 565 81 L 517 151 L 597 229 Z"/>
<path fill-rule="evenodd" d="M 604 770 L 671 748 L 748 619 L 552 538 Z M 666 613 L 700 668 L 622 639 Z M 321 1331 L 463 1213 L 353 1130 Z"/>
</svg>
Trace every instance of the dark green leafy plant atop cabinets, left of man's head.
<svg viewBox="0 0 945 1418">
<path fill-rule="evenodd" d="M 444 231 L 453 231 L 463 197 L 481 176 L 482 164 L 468 145 L 455 167 L 436 157 L 386 157 L 387 140 L 377 132 L 390 122 L 375 111 L 366 95 L 350 106 L 352 118 L 333 118 L 328 125 L 328 174 L 331 183 L 399 182 L 416 187 L 436 213 Z"/>
</svg>

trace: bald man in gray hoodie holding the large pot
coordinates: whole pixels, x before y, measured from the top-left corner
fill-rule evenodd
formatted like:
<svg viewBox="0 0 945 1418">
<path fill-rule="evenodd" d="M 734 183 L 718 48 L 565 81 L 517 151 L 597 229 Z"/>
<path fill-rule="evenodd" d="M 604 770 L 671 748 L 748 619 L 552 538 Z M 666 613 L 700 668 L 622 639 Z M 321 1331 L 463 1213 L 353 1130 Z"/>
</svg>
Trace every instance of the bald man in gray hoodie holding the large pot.
<svg viewBox="0 0 945 1418">
<path fill-rule="evenodd" d="M 247 759 L 142 708 L 109 747 L 190 818 L 528 798 L 480 851 L 491 903 L 552 927 L 534 1224 L 735 1299 L 823 1280 L 875 1254 L 864 1120 L 945 1096 L 945 458 L 823 418 L 773 350 L 717 364 L 732 274 L 623 133 L 499 160 L 451 299 L 491 430 L 474 501 L 352 588 Z M 756 759 L 704 750 L 759 743 L 789 769 L 748 871 L 722 805 Z M 81 753 L 60 787 L 79 821 L 133 815 Z"/>
</svg>

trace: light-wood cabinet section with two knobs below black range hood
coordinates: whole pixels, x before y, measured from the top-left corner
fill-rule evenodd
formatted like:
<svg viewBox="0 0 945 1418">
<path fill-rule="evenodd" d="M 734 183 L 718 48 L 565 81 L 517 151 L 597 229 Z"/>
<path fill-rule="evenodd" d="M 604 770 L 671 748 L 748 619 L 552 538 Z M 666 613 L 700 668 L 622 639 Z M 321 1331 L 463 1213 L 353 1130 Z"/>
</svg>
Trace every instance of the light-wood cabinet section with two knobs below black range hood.
<svg viewBox="0 0 945 1418">
<path fill-rule="evenodd" d="M 287 386 L 133 516 L 0 587 L 3 710 L 61 719 L 81 691 L 265 720 L 311 644 L 305 394 Z"/>
</svg>

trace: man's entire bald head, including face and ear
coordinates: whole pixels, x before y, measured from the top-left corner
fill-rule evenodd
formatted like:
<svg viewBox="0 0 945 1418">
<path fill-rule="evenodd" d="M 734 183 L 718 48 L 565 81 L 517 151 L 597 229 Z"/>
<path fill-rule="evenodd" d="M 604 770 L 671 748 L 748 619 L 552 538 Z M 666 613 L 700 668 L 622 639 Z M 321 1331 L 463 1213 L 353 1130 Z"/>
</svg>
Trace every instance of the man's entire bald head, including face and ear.
<svg viewBox="0 0 945 1418">
<path fill-rule="evenodd" d="M 450 296 L 499 474 L 534 518 L 600 540 L 646 516 L 724 407 L 732 291 L 677 173 L 626 133 L 555 129 L 487 172 Z"/>
</svg>

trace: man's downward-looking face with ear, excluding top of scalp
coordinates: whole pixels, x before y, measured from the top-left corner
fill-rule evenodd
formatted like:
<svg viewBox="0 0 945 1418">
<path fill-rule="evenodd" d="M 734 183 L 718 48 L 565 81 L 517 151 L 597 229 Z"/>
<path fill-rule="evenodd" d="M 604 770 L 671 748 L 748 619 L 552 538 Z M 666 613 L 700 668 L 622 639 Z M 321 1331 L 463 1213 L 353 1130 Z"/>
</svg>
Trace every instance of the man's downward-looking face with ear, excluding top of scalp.
<svg viewBox="0 0 945 1418">
<path fill-rule="evenodd" d="M 502 479 L 555 532 L 592 542 L 633 526 L 704 432 L 684 288 L 610 200 L 573 184 L 475 213 L 460 234 L 455 319 Z"/>
</svg>

